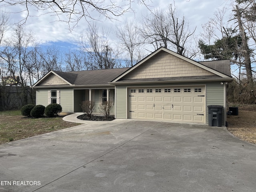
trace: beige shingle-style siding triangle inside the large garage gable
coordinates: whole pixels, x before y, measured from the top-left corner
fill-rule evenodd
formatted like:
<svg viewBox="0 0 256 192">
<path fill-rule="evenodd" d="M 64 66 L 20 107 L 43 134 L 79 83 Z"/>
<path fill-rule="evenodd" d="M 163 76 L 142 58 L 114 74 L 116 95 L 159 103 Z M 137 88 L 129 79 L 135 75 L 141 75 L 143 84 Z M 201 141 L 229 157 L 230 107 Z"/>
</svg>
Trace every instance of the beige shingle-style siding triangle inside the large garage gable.
<svg viewBox="0 0 256 192">
<path fill-rule="evenodd" d="M 131 74 L 126 75 L 125 78 L 142 79 L 210 75 L 214 74 L 167 52 L 160 52 L 131 72 Z"/>
</svg>

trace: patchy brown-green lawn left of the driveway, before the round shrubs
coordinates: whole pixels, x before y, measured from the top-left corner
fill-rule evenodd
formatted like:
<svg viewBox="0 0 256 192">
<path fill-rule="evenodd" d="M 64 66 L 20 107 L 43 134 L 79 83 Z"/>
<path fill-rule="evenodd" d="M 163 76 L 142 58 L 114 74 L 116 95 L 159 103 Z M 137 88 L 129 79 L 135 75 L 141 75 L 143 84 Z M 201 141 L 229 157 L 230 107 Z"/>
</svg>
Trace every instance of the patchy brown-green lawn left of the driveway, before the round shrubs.
<svg viewBox="0 0 256 192">
<path fill-rule="evenodd" d="M 20 110 L 0 112 L 0 144 L 79 125 L 53 118 L 26 118 Z"/>
</svg>

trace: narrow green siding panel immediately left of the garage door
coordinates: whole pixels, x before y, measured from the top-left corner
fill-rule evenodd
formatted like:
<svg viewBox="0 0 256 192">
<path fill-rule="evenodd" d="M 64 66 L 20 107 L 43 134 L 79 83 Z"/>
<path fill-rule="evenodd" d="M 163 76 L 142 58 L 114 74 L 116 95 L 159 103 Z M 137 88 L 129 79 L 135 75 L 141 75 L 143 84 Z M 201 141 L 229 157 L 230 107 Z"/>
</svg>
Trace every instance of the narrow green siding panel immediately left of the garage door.
<svg viewBox="0 0 256 192">
<path fill-rule="evenodd" d="M 126 86 L 116 86 L 116 118 L 126 119 Z"/>
</svg>

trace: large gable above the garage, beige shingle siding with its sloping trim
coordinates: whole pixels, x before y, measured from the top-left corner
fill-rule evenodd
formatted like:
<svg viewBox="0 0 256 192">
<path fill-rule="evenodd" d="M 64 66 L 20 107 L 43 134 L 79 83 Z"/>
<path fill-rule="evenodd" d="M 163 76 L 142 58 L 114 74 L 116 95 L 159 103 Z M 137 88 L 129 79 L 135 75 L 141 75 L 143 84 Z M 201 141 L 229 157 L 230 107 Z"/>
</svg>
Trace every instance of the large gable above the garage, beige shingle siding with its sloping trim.
<svg viewBox="0 0 256 192">
<path fill-rule="evenodd" d="M 184 78 L 184 77 L 198 77 L 209 76 L 210 78 L 230 78 L 226 74 L 218 72 L 206 65 L 195 62 L 172 52 L 166 48 L 160 48 L 138 62 L 132 68 L 127 70 L 112 82 L 123 80 L 146 80 L 160 79 L 160 78 Z"/>
</svg>

